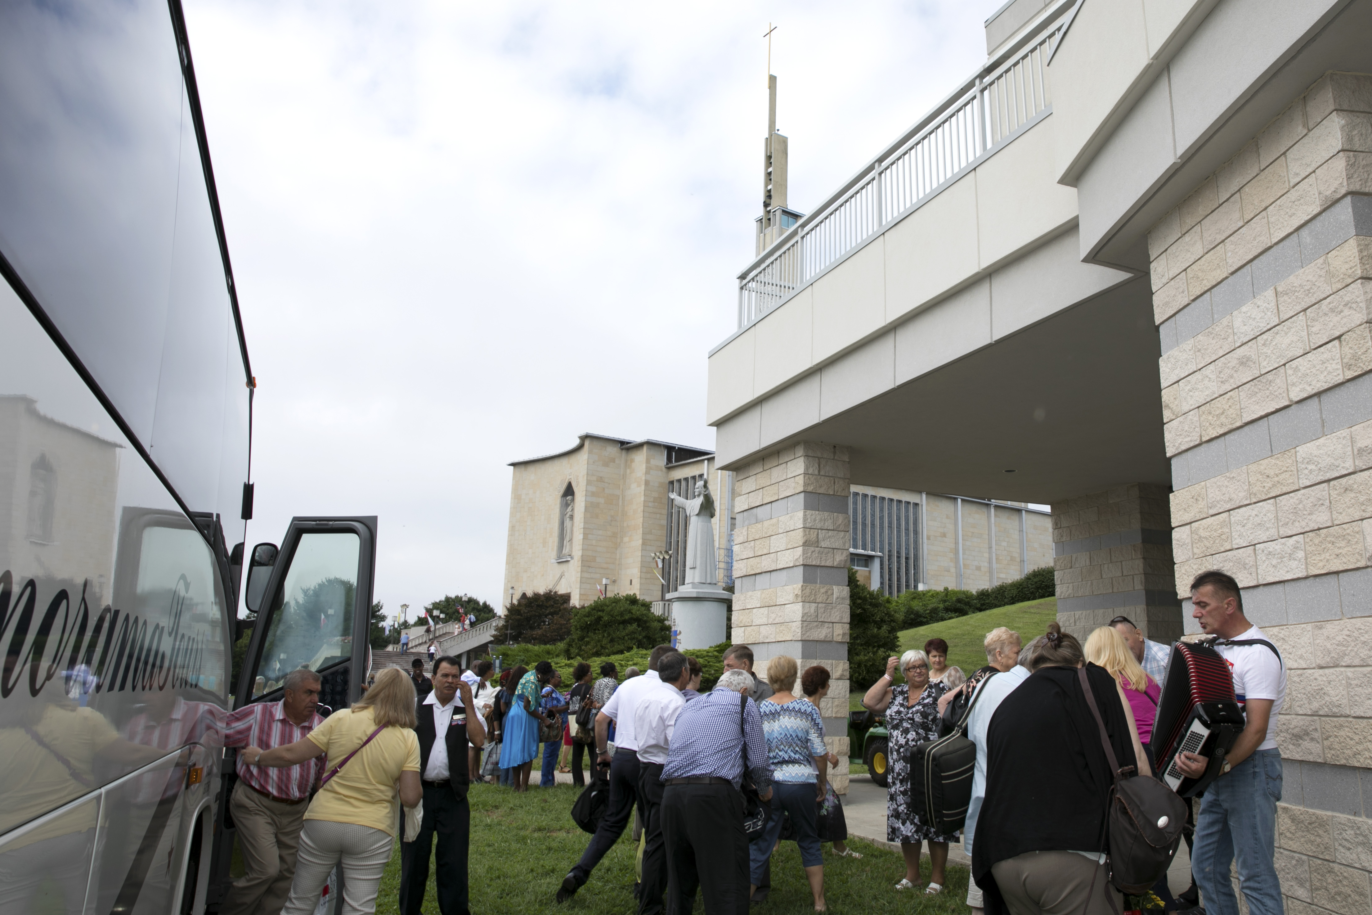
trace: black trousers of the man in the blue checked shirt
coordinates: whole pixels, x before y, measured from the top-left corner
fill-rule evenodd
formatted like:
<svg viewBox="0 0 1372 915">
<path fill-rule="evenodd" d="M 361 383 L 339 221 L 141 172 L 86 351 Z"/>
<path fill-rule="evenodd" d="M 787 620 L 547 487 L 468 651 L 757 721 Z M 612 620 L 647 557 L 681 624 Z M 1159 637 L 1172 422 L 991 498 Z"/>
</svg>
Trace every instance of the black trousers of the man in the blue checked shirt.
<svg viewBox="0 0 1372 915">
<path fill-rule="evenodd" d="M 705 915 L 746 915 L 744 796 L 723 782 L 668 785 L 661 820 L 668 911 L 690 915 L 698 889 Z"/>
</svg>

